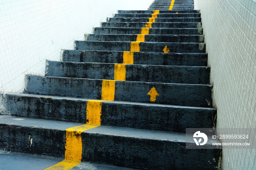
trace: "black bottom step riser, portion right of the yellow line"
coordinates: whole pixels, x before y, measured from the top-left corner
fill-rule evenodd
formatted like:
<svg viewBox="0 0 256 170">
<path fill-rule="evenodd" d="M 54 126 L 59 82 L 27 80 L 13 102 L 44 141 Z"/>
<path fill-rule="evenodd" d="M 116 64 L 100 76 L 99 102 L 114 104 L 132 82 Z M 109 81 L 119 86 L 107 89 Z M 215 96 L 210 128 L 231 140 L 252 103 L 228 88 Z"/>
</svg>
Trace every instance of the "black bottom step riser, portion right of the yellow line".
<svg viewBox="0 0 256 170">
<path fill-rule="evenodd" d="M 85 139 L 84 161 L 106 162 L 134 169 L 167 170 L 170 167 L 172 170 L 180 170 L 181 167 L 189 167 L 190 170 L 215 169 L 220 155 L 219 150 L 186 150 L 185 143 L 180 142 L 126 139 L 119 136 L 105 137 L 98 134 L 98 140 L 95 140 L 96 134 L 82 135 Z M 102 148 L 98 148 L 98 146 L 102 146 Z M 195 157 L 195 155 L 197 156 Z M 212 159 L 217 161 L 214 162 Z"/>
</svg>

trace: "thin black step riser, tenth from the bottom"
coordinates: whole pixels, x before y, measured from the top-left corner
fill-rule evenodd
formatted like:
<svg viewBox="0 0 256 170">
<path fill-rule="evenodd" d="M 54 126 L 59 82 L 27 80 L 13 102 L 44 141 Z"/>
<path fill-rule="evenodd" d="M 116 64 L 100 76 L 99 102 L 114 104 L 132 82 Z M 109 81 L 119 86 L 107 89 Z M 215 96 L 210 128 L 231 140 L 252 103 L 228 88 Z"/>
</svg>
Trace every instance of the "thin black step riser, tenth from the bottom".
<svg viewBox="0 0 256 170">
<path fill-rule="evenodd" d="M 148 22 L 148 18 L 107 18 L 108 22 Z M 155 22 L 201 22 L 201 18 L 155 18 Z"/>
</svg>

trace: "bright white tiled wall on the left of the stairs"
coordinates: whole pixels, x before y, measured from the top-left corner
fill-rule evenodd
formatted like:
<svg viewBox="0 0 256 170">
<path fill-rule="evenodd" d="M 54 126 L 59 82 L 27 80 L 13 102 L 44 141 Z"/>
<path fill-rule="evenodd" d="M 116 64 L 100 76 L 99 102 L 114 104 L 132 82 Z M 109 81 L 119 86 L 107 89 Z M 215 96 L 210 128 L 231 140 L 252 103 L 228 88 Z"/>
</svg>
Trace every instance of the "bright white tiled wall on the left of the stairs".
<svg viewBox="0 0 256 170">
<path fill-rule="evenodd" d="M 147 9 L 153 0 L 1 0 L 0 92 L 22 92 L 25 74 L 44 75 L 118 9 Z"/>
</svg>

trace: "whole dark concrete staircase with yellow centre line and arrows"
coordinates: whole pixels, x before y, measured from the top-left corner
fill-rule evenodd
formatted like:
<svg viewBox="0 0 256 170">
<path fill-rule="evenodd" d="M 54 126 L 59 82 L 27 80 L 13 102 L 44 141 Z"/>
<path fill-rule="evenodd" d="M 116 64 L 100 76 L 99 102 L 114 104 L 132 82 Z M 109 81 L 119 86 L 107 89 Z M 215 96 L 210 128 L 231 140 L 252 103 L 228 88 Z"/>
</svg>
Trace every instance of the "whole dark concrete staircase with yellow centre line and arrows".
<svg viewBox="0 0 256 170">
<path fill-rule="evenodd" d="M 185 148 L 186 128 L 215 127 L 217 115 L 200 21 L 192 0 L 118 11 L 62 50 L 61 62 L 46 61 L 45 76 L 26 75 L 24 93 L 1 93 L 0 150 L 133 169 L 218 169 L 220 149 Z"/>
</svg>

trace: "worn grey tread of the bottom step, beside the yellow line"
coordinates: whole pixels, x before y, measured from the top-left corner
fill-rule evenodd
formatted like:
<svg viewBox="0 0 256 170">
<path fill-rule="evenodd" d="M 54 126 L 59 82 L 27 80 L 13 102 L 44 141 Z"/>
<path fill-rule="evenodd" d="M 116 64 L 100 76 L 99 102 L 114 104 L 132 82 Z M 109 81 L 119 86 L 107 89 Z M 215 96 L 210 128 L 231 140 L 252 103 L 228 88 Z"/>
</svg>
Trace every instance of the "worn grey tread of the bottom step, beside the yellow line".
<svg viewBox="0 0 256 170">
<path fill-rule="evenodd" d="M 10 126 L 24 126 L 30 128 L 43 128 L 51 130 L 65 131 L 67 128 L 76 127 L 84 125 L 84 123 L 74 123 L 58 120 L 45 120 L 45 119 L 34 119 L 28 117 L 19 117 L 11 115 L 0 115 L 0 125 L 10 125 Z M 166 131 L 155 131 L 155 130 L 143 130 L 136 128 L 126 128 L 126 127 L 114 127 L 101 125 L 99 127 L 91 128 L 84 131 L 83 133 L 89 134 L 101 134 L 110 136 L 121 136 L 124 138 L 140 138 L 140 139 L 150 139 L 150 140 L 166 140 L 167 142 L 177 142 L 177 143 L 195 143 L 193 138 L 186 141 L 185 133 L 177 132 L 166 132 Z M 192 135 L 191 135 L 192 136 Z M 212 139 L 208 141 L 208 145 L 211 146 L 211 142 L 219 142 L 218 139 Z M 206 144 L 206 145 L 207 145 Z"/>
</svg>

